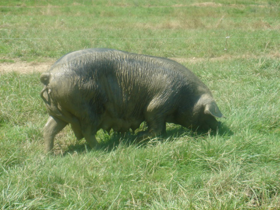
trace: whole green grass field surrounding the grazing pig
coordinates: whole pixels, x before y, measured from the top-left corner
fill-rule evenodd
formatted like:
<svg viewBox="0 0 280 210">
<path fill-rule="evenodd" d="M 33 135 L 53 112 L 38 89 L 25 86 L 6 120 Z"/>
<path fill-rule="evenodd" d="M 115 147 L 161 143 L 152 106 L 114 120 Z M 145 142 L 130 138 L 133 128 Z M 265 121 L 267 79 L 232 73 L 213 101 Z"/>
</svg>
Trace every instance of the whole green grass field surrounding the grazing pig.
<svg viewBox="0 0 280 210">
<path fill-rule="evenodd" d="M 205 1 L 0 2 L 0 68 L 89 47 L 169 57 L 227 116 L 141 145 L 99 131 L 99 150 L 66 127 L 44 155 L 40 73 L 0 71 L 0 209 L 280 209 L 280 3 Z"/>
</svg>

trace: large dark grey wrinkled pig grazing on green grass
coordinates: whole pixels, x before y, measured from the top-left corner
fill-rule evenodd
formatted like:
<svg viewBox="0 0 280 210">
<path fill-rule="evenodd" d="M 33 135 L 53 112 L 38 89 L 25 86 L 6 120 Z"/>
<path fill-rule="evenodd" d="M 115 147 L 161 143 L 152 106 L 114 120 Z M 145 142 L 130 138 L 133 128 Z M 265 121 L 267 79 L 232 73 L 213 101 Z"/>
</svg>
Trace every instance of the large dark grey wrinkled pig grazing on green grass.
<svg viewBox="0 0 280 210">
<path fill-rule="evenodd" d="M 166 122 L 192 129 L 217 129 L 224 117 L 209 88 L 178 62 L 115 49 L 83 49 L 60 57 L 40 75 L 40 95 L 49 118 L 45 152 L 67 124 L 79 140 L 98 147 L 97 130 L 134 131 L 138 139 L 164 133 Z"/>
</svg>

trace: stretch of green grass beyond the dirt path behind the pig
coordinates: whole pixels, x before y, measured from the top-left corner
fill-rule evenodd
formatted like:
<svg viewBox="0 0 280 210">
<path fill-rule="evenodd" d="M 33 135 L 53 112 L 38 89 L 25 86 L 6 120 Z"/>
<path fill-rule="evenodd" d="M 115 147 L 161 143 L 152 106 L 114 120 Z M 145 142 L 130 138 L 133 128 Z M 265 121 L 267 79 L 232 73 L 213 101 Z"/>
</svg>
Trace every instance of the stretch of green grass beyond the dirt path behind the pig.
<svg viewBox="0 0 280 210">
<path fill-rule="evenodd" d="M 280 44 L 277 1 L 3 2 L 0 57 L 57 58 L 89 47 L 120 48 L 167 57 L 272 54 Z M 249 3 L 249 5 L 247 5 Z M 253 4 L 253 5 L 251 5 Z M 173 5 L 173 6 L 172 6 Z M 202 4 L 203 5 L 203 4 Z"/>
</svg>

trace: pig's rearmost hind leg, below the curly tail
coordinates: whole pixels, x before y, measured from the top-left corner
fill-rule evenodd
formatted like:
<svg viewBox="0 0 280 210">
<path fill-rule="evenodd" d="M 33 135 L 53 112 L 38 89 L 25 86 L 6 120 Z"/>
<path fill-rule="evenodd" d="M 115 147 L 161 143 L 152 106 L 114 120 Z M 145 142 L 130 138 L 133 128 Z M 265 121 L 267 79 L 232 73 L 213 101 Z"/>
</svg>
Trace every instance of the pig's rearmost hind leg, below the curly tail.
<svg viewBox="0 0 280 210">
<path fill-rule="evenodd" d="M 45 141 L 45 153 L 50 152 L 53 148 L 55 135 L 62 130 L 68 123 L 54 116 L 49 116 L 43 128 L 43 137 Z"/>
</svg>

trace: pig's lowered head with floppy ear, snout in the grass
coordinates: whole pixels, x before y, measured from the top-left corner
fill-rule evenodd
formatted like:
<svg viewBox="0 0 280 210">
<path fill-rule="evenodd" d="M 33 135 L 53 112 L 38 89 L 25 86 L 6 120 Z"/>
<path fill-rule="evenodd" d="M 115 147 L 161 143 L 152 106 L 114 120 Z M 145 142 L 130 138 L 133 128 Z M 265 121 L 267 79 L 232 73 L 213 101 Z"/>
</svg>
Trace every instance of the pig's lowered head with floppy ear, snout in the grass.
<svg viewBox="0 0 280 210">
<path fill-rule="evenodd" d="M 216 130 L 220 124 L 216 118 L 224 117 L 213 97 L 207 93 L 199 96 L 194 105 L 182 107 L 179 112 L 179 124 L 194 130 Z"/>
</svg>

